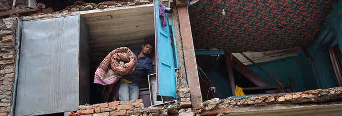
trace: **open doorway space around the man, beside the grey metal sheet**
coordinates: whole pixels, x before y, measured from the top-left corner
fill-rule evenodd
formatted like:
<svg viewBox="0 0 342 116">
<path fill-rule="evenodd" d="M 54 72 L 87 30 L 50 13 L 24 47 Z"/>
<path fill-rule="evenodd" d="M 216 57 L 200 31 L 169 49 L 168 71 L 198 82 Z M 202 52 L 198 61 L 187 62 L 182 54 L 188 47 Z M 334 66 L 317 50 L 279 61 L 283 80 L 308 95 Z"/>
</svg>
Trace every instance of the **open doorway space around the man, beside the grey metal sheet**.
<svg viewBox="0 0 342 116">
<path fill-rule="evenodd" d="M 90 104 L 112 101 L 113 98 L 104 100 L 104 86 L 93 83 L 96 68 L 116 48 L 128 47 L 133 52 L 137 52 L 142 49 L 145 41 L 152 40 L 154 42 L 153 4 L 84 14 L 82 17 L 90 32 Z M 149 57 L 153 60 L 155 67 L 156 58 L 154 54 L 155 49 Z M 156 68 L 154 70 L 156 72 Z M 145 88 L 140 88 L 141 93 L 144 93 Z"/>
</svg>

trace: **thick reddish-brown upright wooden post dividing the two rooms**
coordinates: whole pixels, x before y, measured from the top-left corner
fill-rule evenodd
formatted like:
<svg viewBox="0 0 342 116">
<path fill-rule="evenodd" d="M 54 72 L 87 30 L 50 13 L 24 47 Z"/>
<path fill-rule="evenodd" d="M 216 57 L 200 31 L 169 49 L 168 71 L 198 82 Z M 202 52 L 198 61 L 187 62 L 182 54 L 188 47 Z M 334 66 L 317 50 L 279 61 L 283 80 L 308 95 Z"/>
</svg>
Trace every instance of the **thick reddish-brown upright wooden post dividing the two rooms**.
<svg viewBox="0 0 342 116">
<path fill-rule="evenodd" d="M 193 109 L 200 109 L 202 96 L 198 80 L 195 51 L 192 41 L 191 26 L 187 6 L 178 7 L 180 35 L 183 42 L 184 64 L 188 85 L 190 88 L 191 104 Z"/>
</svg>

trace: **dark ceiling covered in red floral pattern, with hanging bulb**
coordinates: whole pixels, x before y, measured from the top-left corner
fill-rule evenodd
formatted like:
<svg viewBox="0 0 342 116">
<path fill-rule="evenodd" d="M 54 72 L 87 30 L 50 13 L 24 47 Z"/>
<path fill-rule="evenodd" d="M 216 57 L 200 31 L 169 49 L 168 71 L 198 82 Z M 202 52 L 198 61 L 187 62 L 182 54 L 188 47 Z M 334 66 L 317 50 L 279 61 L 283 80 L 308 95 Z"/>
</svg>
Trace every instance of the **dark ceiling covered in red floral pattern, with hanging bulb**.
<svg viewBox="0 0 342 116">
<path fill-rule="evenodd" d="M 231 52 L 308 46 L 336 1 L 199 0 L 189 6 L 193 44 Z"/>
</svg>

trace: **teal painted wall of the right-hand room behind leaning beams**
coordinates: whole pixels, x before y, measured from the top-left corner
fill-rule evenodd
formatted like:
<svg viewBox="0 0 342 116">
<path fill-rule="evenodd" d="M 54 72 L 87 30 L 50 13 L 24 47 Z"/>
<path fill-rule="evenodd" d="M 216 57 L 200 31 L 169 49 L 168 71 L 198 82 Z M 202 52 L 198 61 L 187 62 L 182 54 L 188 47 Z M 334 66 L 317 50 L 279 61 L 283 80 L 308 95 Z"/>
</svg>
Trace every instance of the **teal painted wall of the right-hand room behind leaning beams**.
<svg viewBox="0 0 342 116">
<path fill-rule="evenodd" d="M 337 87 L 327 50 L 309 51 L 314 63 L 300 52 L 297 56 L 257 64 L 284 85 L 290 85 L 289 78 L 293 78 L 298 92 Z M 247 67 L 271 85 L 277 86 L 276 82 L 256 66 L 247 65 Z M 212 85 L 223 98 L 231 96 L 228 78 L 216 71 L 205 72 L 205 74 L 210 75 Z M 221 98 L 218 94 L 214 96 Z"/>
</svg>

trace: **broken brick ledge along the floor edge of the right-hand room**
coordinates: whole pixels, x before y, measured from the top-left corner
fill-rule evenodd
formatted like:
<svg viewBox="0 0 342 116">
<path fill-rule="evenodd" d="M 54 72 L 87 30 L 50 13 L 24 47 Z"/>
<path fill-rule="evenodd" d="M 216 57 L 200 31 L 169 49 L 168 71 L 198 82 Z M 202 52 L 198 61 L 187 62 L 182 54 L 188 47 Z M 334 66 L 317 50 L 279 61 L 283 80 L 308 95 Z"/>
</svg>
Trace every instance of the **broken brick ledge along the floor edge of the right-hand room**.
<svg viewBox="0 0 342 116">
<path fill-rule="evenodd" d="M 266 106 L 272 104 L 318 103 L 334 100 L 342 100 L 342 87 L 310 90 L 287 95 L 265 95 L 208 100 L 203 103 L 201 110 L 205 112 L 224 108 Z"/>
</svg>

